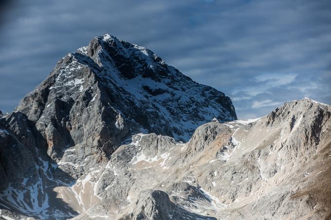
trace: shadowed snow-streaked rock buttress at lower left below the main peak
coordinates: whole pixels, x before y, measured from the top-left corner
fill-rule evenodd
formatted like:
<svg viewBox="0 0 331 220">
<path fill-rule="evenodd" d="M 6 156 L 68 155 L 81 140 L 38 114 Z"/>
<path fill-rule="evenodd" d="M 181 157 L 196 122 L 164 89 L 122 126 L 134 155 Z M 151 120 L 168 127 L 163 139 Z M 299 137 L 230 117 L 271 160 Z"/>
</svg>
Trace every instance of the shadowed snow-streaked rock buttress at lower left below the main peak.
<svg viewBox="0 0 331 220">
<path fill-rule="evenodd" d="M 56 197 L 54 187 L 69 186 L 74 179 L 57 169 L 47 149 L 40 148 L 43 141 L 24 114 L 14 112 L 0 118 L 0 207 L 5 208 L 1 210 L 4 216 L 64 219 L 78 214 Z"/>
</svg>

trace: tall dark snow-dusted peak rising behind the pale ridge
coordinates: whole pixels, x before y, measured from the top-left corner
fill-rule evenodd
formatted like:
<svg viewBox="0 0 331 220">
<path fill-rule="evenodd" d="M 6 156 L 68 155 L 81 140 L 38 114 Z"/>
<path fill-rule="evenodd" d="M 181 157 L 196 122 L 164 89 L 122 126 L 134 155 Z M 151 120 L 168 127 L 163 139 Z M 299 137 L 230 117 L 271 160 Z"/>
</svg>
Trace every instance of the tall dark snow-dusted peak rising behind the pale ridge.
<svg viewBox="0 0 331 220">
<path fill-rule="evenodd" d="M 229 97 L 200 85 L 146 48 L 108 34 L 67 54 L 18 105 L 55 160 L 77 144 L 108 157 L 137 132 L 188 140 L 216 117 L 236 119 Z"/>
</svg>

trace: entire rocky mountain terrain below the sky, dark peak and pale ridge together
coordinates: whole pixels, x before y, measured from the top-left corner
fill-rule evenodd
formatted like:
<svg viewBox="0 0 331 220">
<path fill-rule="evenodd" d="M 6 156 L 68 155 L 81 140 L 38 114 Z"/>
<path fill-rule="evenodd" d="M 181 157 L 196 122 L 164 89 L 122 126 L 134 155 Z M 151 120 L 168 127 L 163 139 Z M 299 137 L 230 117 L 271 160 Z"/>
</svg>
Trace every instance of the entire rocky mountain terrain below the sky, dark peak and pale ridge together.
<svg viewBox="0 0 331 220">
<path fill-rule="evenodd" d="M 331 107 L 231 99 L 105 34 L 0 115 L 0 219 L 331 218 Z"/>
</svg>

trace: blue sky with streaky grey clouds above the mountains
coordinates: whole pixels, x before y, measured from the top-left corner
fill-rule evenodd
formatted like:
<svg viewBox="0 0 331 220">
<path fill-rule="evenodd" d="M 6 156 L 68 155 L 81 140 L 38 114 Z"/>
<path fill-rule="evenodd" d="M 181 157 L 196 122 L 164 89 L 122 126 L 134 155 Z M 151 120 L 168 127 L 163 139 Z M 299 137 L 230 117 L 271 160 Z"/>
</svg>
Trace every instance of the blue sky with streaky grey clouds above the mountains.
<svg viewBox="0 0 331 220">
<path fill-rule="evenodd" d="M 238 118 L 331 104 L 330 0 L 13 0 L 0 5 L 0 110 L 66 53 L 109 33 L 228 95 Z"/>
</svg>

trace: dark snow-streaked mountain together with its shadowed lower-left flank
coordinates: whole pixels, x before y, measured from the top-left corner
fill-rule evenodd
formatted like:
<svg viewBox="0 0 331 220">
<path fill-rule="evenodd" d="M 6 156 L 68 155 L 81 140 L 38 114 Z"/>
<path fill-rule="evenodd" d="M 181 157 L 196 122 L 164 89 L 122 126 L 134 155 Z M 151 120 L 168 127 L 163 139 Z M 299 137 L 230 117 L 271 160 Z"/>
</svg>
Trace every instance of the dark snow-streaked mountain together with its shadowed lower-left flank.
<svg viewBox="0 0 331 220">
<path fill-rule="evenodd" d="M 236 119 L 224 93 L 193 82 L 146 48 L 109 34 L 95 37 L 1 116 L 1 207 L 47 219 L 74 216 L 85 205 L 64 205 L 55 188 L 80 198 L 79 179 L 132 135 L 186 141 L 214 117 Z M 93 198 L 91 204 L 100 200 Z"/>
</svg>

